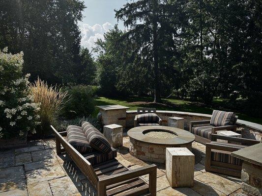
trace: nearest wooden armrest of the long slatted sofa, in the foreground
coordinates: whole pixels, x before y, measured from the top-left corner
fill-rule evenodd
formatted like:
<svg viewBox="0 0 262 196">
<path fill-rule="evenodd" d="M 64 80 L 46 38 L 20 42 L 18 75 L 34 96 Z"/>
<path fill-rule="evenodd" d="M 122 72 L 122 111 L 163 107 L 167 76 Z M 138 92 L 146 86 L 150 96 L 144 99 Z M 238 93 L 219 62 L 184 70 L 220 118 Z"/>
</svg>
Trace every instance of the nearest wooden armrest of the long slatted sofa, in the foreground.
<svg viewBox="0 0 262 196">
<path fill-rule="evenodd" d="M 156 165 L 152 164 L 143 168 L 129 170 L 126 172 L 116 173 L 114 175 L 99 178 L 98 180 L 98 196 L 106 196 L 106 186 L 116 184 L 128 179 L 136 178 L 149 174 L 149 192 L 151 196 L 156 196 Z"/>
</svg>

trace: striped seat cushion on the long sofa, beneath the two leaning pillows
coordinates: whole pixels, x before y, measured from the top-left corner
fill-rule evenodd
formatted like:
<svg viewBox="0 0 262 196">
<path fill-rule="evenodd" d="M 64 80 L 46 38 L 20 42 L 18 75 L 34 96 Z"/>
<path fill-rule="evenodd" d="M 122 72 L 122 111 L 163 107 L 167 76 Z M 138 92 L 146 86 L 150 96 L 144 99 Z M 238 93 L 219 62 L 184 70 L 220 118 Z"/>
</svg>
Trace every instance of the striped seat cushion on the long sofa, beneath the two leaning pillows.
<svg viewBox="0 0 262 196">
<path fill-rule="evenodd" d="M 116 149 L 112 148 L 109 153 L 95 151 L 93 153 L 83 155 L 91 165 L 96 165 L 114 159 L 117 156 Z"/>
</svg>

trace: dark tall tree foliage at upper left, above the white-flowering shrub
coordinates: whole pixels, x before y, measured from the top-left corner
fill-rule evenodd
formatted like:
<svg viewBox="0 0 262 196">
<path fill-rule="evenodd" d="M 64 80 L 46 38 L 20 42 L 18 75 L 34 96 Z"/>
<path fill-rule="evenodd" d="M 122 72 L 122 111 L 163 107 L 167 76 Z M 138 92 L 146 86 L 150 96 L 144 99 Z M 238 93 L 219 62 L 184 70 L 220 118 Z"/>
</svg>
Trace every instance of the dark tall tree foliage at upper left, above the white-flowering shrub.
<svg viewBox="0 0 262 196">
<path fill-rule="evenodd" d="M 0 0 L 0 48 L 24 51 L 24 73 L 49 84 L 78 82 L 81 0 Z M 89 81 L 88 81 L 89 82 Z"/>
</svg>

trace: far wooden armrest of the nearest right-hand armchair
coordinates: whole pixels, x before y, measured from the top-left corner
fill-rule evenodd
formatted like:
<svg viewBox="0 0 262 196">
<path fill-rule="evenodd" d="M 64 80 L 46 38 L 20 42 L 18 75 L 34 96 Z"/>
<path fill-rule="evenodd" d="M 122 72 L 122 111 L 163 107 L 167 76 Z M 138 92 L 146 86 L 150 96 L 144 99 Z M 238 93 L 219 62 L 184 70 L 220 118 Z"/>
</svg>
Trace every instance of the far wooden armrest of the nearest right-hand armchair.
<svg viewBox="0 0 262 196">
<path fill-rule="evenodd" d="M 211 141 L 217 141 L 217 139 L 219 139 L 219 140 L 227 140 L 227 141 L 231 141 L 231 142 L 238 142 L 238 143 L 241 143 L 241 145 L 247 145 L 247 146 L 252 146 L 252 145 L 260 143 L 260 141 L 257 141 L 257 140 L 251 140 L 251 139 L 246 139 L 246 138 L 237 138 L 237 137 L 231 137 L 231 136 L 211 134 Z"/>
</svg>

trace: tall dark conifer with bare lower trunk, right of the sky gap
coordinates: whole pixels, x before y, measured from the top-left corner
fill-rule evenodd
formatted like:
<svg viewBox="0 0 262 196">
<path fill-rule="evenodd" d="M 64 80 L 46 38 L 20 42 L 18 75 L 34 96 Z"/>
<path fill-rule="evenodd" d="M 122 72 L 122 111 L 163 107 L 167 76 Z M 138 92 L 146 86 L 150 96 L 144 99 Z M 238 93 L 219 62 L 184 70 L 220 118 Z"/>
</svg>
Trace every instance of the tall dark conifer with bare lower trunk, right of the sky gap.
<svg viewBox="0 0 262 196">
<path fill-rule="evenodd" d="M 175 14 L 179 9 L 176 5 L 169 0 L 138 0 L 116 11 L 117 20 L 123 20 L 130 28 L 124 37 L 136 45 L 133 52 L 140 53 L 141 60 L 152 65 L 154 102 L 161 101 L 160 65 L 171 57 L 170 51 L 172 56 L 175 53 L 173 38 L 177 33 L 176 24 L 180 23 L 180 17 Z M 169 23 L 171 17 L 173 24 Z"/>
</svg>

